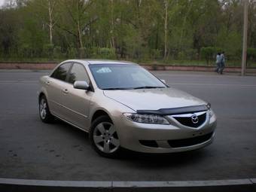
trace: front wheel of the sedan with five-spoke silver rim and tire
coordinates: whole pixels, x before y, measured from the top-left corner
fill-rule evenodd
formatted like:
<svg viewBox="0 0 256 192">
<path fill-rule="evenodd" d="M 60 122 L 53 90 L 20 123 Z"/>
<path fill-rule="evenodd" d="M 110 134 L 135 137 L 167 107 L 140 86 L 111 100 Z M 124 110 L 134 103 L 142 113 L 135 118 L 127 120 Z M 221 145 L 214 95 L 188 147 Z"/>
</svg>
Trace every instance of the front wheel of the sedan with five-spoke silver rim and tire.
<svg viewBox="0 0 256 192">
<path fill-rule="evenodd" d="M 100 116 L 93 120 L 90 129 L 90 142 L 102 157 L 117 157 L 117 154 L 120 153 L 117 130 L 108 116 Z"/>
</svg>

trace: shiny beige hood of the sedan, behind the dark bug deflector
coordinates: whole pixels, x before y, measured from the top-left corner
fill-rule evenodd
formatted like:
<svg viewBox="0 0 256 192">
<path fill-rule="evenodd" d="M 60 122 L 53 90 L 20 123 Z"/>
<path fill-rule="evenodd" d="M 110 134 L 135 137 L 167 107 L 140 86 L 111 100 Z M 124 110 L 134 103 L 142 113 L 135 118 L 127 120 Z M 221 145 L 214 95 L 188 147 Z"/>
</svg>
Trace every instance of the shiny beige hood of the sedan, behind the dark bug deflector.
<svg viewBox="0 0 256 192">
<path fill-rule="evenodd" d="M 104 90 L 105 96 L 137 110 L 158 110 L 160 108 L 179 108 L 205 105 L 201 99 L 173 88 L 142 90 Z"/>
</svg>

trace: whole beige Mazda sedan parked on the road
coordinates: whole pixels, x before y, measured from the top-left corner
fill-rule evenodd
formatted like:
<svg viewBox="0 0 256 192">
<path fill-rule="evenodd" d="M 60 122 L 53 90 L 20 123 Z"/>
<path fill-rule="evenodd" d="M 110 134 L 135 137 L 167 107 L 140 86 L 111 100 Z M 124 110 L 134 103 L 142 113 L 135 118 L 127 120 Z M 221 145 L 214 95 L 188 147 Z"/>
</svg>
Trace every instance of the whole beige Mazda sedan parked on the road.
<svg viewBox="0 0 256 192">
<path fill-rule="evenodd" d="M 40 78 L 41 120 L 55 117 L 89 133 L 103 157 L 121 148 L 172 153 L 212 143 L 209 103 L 169 87 L 133 62 L 74 59 Z"/>
</svg>

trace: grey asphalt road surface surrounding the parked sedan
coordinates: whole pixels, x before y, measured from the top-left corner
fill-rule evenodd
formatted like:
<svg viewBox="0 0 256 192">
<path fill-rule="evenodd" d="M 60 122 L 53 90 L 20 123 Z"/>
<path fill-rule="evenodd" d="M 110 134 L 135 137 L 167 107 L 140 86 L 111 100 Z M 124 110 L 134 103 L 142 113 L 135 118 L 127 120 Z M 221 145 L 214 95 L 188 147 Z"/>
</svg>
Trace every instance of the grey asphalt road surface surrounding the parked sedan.
<svg viewBox="0 0 256 192">
<path fill-rule="evenodd" d="M 0 71 L 0 178 L 180 181 L 256 177 L 256 77 L 154 72 L 172 87 L 212 103 L 215 142 L 180 154 L 125 151 L 99 157 L 81 130 L 38 117 L 38 78 L 47 71 Z"/>
</svg>

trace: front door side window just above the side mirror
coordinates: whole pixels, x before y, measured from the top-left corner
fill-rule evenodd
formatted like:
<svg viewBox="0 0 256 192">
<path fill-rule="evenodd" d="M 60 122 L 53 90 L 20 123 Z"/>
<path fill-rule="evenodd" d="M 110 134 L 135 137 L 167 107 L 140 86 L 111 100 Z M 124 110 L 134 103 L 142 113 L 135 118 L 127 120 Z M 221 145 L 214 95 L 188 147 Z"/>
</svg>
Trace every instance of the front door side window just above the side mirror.
<svg viewBox="0 0 256 192">
<path fill-rule="evenodd" d="M 89 84 L 89 78 L 84 66 L 78 63 L 74 63 L 69 73 L 69 83 L 74 84 L 75 81 L 87 81 Z"/>
</svg>

